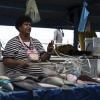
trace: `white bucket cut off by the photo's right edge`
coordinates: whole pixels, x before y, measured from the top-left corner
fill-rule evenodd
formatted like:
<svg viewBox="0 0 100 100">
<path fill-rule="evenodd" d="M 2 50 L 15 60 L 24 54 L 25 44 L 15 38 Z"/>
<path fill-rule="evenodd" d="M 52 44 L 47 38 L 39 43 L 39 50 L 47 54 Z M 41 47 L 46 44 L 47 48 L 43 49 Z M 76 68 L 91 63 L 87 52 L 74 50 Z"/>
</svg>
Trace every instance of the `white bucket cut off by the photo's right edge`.
<svg viewBox="0 0 100 100">
<path fill-rule="evenodd" d="M 93 55 L 100 56 L 100 38 L 93 37 Z"/>
</svg>

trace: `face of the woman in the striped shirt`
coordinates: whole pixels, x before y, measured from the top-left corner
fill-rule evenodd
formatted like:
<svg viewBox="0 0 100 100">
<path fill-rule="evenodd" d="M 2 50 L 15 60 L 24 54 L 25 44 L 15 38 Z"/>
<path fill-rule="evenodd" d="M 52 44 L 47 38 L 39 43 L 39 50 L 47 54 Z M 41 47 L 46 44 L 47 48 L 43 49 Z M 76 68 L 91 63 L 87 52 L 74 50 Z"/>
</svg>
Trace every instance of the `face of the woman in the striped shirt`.
<svg viewBox="0 0 100 100">
<path fill-rule="evenodd" d="M 24 22 L 22 26 L 19 27 L 19 32 L 21 34 L 29 35 L 31 32 L 31 23 L 30 22 Z"/>
</svg>

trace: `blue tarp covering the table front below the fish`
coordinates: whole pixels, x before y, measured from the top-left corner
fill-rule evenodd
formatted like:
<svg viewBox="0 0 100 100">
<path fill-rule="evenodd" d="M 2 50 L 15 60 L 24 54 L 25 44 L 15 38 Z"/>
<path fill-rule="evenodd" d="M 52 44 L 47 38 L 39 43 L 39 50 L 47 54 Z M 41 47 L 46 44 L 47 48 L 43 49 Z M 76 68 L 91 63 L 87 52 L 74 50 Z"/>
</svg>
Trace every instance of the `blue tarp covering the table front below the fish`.
<svg viewBox="0 0 100 100">
<path fill-rule="evenodd" d="M 100 85 L 73 87 L 72 90 L 15 91 L 7 94 L 8 96 L 0 95 L 0 100 L 100 100 Z"/>
</svg>

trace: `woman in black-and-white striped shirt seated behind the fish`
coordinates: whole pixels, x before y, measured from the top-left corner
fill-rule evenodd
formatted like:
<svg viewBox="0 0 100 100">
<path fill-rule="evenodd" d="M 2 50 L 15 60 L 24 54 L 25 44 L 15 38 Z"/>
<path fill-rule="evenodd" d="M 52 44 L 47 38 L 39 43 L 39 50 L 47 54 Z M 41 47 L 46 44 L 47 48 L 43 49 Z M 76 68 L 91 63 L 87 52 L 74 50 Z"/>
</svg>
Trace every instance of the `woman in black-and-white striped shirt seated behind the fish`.
<svg viewBox="0 0 100 100">
<path fill-rule="evenodd" d="M 32 20 L 29 16 L 21 16 L 15 22 L 19 35 L 8 41 L 3 52 L 7 75 L 16 72 L 42 73 L 41 68 L 30 67 L 29 63 L 50 59 L 50 54 L 44 50 L 42 44 L 30 36 L 31 24 Z M 50 50 L 48 45 L 48 51 Z"/>
</svg>

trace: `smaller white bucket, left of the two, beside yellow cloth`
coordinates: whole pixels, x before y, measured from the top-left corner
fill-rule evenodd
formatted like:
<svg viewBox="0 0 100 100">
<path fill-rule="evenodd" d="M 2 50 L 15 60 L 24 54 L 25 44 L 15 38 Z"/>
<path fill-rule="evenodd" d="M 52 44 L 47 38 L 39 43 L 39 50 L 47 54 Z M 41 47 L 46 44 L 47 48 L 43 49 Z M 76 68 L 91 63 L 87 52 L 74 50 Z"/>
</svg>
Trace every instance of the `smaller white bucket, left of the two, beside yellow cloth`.
<svg viewBox="0 0 100 100">
<path fill-rule="evenodd" d="M 85 51 L 92 51 L 93 50 L 93 39 L 92 38 L 85 38 Z"/>
</svg>

